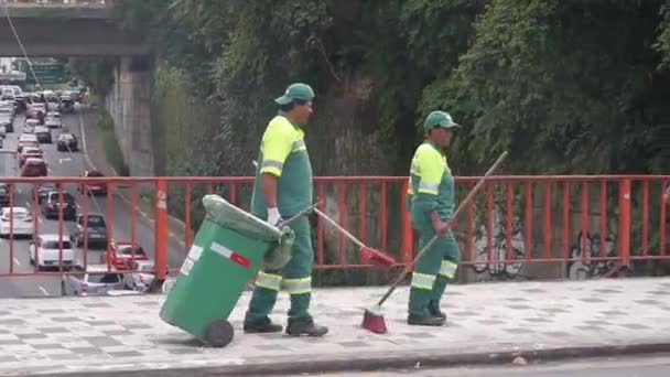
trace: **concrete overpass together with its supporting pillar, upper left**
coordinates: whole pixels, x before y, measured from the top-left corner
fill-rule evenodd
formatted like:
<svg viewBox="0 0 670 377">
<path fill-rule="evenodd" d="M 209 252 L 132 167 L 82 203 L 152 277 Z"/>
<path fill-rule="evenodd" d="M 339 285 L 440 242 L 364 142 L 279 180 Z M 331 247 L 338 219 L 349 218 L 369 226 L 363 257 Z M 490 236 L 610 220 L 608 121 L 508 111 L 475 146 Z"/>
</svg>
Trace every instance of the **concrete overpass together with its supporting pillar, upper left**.
<svg viewBox="0 0 670 377">
<path fill-rule="evenodd" d="M 0 0 L 0 56 L 23 56 L 9 14 L 29 58 L 118 57 L 104 104 L 130 174 L 153 175 L 153 55 L 142 35 L 119 28 L 112 11 L 110 0 Z"/>
</svg>

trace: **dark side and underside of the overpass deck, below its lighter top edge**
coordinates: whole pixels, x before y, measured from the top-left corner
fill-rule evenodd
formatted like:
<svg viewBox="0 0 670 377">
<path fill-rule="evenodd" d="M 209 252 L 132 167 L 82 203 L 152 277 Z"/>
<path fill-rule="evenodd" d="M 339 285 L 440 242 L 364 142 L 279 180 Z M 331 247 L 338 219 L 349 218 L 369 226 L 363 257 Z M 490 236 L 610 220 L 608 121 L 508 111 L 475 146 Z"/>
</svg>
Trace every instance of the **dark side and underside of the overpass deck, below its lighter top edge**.
<svg viewBox="0 0 670 377">
<path fill-rule="evenodd" d="M 148 55 L 143 37 L 121 31 L 114 22 L 84 19 L 13 19 L 29 56 Z M 22 56 L 7 20 L 0 21 L 0 56 Z"/>
</svg>

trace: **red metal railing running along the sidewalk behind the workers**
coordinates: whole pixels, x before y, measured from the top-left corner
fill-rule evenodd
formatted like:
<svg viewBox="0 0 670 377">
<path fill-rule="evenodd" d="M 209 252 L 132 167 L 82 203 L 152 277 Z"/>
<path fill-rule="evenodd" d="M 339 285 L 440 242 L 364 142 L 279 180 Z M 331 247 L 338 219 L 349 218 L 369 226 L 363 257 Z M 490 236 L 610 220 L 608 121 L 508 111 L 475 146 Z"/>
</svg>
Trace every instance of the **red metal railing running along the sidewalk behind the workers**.
<svg viewBox="0 0 670 377">
<path fill-rule="evenodd" d="M 219 193 L 231 203 L 248 209 L 251 177 L 6 177 L 14 188 L 31 190 L 42 183 L 60 185 L 57 230 L 67 240 L 69 224 L 64 220 L 64 193 L 69 187 L 101 184 L 107 186 L 104 197 L 83 195 L 78 198 L 78 213 L 84 214 L 84 245 L 79 262 L 86 267 L 91 260 L 86 224 L 87 214 L 98 208 L 105 213 L 108 237 L 128 238 L 136 244 L 138 237 L 152 231 L 150 240 L 141 245 L 155 250 L 156 274 L 164 278 L 165 267 L 176 270 L 193 243 L 196 220 L 202 218 L 199 200 L 205 193 Z M 457 198 L 462 200 L 478 177 L 457 177 Z M 519 268 L 531 270 L 531 265 L 561 262 L 580 266 L 614 263 L 629 266 L 636 260 L 670 259 L 666 251 L 667 204 L 663 192 L 670 176 L 494 176 L 469 203 L 454 230 L 461 245 L 463 265 L 477 272 L 499 273 Z M 389 176 L 328 176 L 315 180 L 315 197 L 320 208 L 359 239 L 395 255 L 399 265 L 409 263 L 419 247 L 406 208 L 407 177 Z M 42 234 L 41 205 L 36 191 L 31 191 L 29 207 L 33 212 L 34 235 Z M 149 197 L 152 214 L 144 218 L 139 208 L 141 196 Z M 127 202 L 121 207 L 120 197 Z M 17 203 L 17 193 L 9 191 L 10 208 Z M 105 211 L 100 211 L 102 206 Z M 8 268 L 0 276 L 35 273 L 72 273 L 64 265 L 60 247 L 57 271 L 40 271 L 39 260 L 30 270 L 17 270 L 14 258 L 20 255 L 13 235 L 14 218 L 10 209 Z M 169 215 L 183 215 L 185 227 L 173 230 Z M 46 220 L 45 220 L 46 222 Z M 150 225 L 147 225 L 150 224 Z M 328 228 L 322 219 L 312 218 L 315 236 L 316 269 L 370 268 L 360 262 L 355 246 L 345 236 Z M 53 225 L 53 223 L 51 223 Z M 47 226 L 52 228 L 53 226 Z M 119 228 L 121 227 L 121 228 Z M 127 229 L 126 229 L 127 227 Z M 141 227 L 141 230 L 138 228 Z M 119 233 L 117 237 L 117 233 Z M 179 235 L 175 235 L 177 233 Z M 581 235 L 581 236 L 580 236 Z M 175 246 L 179 237 L 181 245 Z M 61 243 L 62 244 L 62 243 Z M 609 249 L 608 249 L 609 248 Z M 101 251 L 100 260 L 112 270 L 115 250 L 110 245 Z M 134 261 L 131 256 L 131 265 Z M 35 254 L 35 259 L 39 255 Z M 613 266 L 609 266 L 612 268 Z M 586 267 L 582 267 L 586 268 Z M 123 270 L 126 271 L 126 270 Z M 75 271 L 76 272 L 76 271 Z M 509 272 L 509 271 L 507 271 Z"/>
</svg>

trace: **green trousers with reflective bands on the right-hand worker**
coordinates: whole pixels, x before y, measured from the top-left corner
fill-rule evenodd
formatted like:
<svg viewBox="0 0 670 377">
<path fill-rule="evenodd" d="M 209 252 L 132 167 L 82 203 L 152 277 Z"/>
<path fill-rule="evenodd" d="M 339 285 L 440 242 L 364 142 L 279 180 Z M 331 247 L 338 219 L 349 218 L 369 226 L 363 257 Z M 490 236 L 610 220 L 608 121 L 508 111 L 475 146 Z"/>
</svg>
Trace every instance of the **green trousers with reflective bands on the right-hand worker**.
<svg viewBox="0 0 670 377">
<path fill-rule="evenodd" d="M 433 238 L 435 230 L 430 222 L 421 222 L 415 227 L 421 249 Z M 454 278 L 460 262 L 458 244 L 450 230 L 439 237 L 414 266 L 408 308 L 411 315 L 428 316 L 440 310 L 446 284 Z"/>
</svg>

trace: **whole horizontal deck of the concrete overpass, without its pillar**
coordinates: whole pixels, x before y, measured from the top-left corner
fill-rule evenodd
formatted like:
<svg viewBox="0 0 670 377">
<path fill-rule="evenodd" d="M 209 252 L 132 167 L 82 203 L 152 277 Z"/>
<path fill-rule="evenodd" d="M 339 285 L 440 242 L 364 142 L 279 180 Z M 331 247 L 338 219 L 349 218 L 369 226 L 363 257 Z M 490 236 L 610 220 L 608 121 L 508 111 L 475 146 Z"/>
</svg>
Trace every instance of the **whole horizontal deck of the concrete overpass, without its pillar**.
<svg viewBox="0 0 670 377">
<path fill-rule="evenodd" d="M 3 0 L 0 56 L 22 56 L 8 15 L 29 56 L 149 55 L 141 35 L 115 22 L 112 6 L 100 0 Z"/>
</svg>

